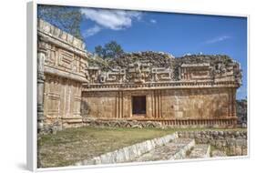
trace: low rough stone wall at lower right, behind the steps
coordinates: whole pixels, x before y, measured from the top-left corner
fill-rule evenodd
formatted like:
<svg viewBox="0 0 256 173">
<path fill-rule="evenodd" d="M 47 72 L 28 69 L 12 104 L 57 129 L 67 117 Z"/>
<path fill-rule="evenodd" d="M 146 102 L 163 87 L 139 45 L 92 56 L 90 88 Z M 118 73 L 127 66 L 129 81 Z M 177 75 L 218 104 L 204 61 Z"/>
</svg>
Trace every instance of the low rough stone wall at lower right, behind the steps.
<svg viewBox="0 0 256 173">
<path fill-rule="evenodd" d="M 228 156 L 247 155 L 246 131 L 179 131 L 178 135 L 195 138 L 198 144 L 210 144 L 215 148 L 224 149 Z"/>
</svg>

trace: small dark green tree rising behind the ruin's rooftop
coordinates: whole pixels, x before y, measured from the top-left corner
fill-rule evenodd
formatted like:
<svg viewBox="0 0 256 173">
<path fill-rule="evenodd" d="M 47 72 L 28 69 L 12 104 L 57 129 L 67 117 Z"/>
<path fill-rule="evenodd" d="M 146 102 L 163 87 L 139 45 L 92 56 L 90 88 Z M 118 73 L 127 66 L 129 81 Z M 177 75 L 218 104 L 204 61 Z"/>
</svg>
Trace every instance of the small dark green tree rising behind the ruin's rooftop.
<svg viewBox="0 0 256 173">
<path fill-rule="evenodd" d="M 124 53 L 124 50 L 116 41 L 110 41 L 104 47 L 96 46 L 95 53 L 102 58 L 117 58 Z"/>
</svg>

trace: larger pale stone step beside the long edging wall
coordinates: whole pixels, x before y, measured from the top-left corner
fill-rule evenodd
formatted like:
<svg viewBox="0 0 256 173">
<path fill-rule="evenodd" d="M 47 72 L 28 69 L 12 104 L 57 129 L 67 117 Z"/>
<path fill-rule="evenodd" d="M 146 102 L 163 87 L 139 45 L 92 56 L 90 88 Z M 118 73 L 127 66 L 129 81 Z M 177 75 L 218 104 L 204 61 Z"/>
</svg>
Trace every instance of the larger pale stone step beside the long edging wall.
<svg viewBox="0 0 256 173">
<path fill-rule="evenodd" d="M 186 158 L 186 153 L 195 145 L 191 138 L 176 138 L 165 146 L 152 149 L 133 161 L 155 161 Z"/>
</svg>

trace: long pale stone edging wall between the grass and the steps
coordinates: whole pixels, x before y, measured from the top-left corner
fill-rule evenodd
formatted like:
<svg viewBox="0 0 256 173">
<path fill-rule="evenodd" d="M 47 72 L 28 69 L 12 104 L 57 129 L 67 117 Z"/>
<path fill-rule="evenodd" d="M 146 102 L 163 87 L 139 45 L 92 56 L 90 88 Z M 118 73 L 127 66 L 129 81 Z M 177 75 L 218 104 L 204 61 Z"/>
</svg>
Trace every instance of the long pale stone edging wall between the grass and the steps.
<svg viewBox="0 0 256 173">
<path fill-rule="evenodd" d="M 146 140 L 144 142 L 134 144 L 126 148 L 120 148 L 113 152 L 108 152 L 96 158 L 91 158 L 91 159 L 77 162 L 76 165 L 80 166 L 80 165 L 115 164 L 115 163 L 129 162 L 134 160 L 135 158 L 138 158 L 142 154 L 147 153 L 148 151 L 154 148 L 158 148 L 159 146 L 166 145 L 171 140 L 177 137 L 178 137 L 178 133 L 175 132 L 174 134 L 168 135 L 165 137 Z"/>
</svg>

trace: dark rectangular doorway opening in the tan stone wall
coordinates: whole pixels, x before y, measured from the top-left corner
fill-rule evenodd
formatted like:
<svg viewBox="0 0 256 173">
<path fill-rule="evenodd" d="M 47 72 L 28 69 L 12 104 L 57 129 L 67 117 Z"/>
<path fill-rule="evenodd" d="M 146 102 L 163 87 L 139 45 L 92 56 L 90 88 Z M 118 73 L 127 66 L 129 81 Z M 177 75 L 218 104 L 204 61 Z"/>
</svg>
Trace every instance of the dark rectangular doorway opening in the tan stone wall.
<svg viewBox="0 0 256 173">
<path fill-rule="evenodd" d="M 132 114 L 146 114 L 146 96 L 132 97 Z"/>
</svg>

